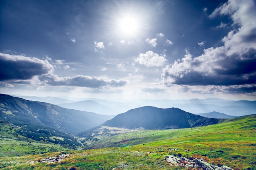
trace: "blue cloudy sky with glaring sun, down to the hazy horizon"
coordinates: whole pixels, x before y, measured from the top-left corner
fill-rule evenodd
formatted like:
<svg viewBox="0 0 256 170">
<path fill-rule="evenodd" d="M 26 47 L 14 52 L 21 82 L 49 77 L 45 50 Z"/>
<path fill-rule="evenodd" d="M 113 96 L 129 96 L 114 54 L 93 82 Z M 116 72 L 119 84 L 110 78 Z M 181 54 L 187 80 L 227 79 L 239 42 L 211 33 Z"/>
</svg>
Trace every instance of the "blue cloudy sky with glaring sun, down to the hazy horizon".
<svg viewBox="0 0 256 170">
<path fill-rule="evenodd" d="M 1 0 L 0 93 L 256 100 L 255 0 Z"/>
</svg>

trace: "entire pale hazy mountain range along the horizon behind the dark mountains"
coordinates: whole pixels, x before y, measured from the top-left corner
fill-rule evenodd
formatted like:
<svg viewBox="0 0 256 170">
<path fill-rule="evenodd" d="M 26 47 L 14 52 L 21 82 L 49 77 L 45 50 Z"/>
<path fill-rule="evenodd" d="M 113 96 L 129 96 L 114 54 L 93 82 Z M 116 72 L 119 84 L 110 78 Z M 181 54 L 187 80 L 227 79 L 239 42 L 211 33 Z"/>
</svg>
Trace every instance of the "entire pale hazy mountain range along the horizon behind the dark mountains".
<svg viewBox="0 0 256 170">
<path fill-rule="evenodd" d="M 83 98 L 78 101 L 58 97 L 29 97 L 16 96 L 28 100 L 57 104 L 64 108 L 94 112 L 102 115 L 117 115 L 133 108 L 155 106 L 158 108 L 180 108 L 189 113 L 219 112 L 231 116 L 244 116 L 256 114 L 256 101 L 227 100 L 218 98 L 207 99 L 161 99 L 161 100 L 133 100 L 129 102 L 108 101 L 96 98 Z M 211 115 L 212 116 L 212 115 Z M 222 118 L 226 118 L 222 117 Z"/>
</svg>

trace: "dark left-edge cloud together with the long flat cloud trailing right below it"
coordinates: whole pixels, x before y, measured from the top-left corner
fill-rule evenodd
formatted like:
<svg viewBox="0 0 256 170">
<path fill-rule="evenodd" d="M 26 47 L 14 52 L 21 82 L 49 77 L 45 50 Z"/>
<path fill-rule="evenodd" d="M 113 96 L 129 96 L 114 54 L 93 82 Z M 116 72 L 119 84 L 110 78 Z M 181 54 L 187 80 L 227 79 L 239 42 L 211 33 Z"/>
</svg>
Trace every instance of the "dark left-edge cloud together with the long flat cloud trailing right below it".
<svg viewBox="0 0 256 170">
<path fill-rule="evenodd" d="M 80 86 L 89 88 L 120 87 L 127 84 L 125 80 L 107 79 L 76 75 L 73 77 L 58 77 L 53 74 L 54 66 L 47 60 L 21 55 L 0 53 L 0 81 L 11 84 L 31 84 L 34 76 L 51 86 Z"/>
</svg>

